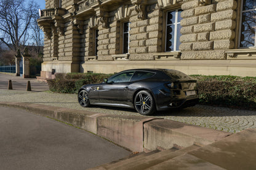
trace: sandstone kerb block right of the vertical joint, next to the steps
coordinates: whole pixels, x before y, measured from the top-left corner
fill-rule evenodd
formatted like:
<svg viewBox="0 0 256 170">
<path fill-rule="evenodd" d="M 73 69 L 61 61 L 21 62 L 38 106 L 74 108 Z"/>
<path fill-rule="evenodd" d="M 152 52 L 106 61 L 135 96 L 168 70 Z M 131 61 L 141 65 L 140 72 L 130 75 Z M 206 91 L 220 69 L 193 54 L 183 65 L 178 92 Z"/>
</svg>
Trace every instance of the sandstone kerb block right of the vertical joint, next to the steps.
<svg viewBox="0 0 256 170">
<path fill-rule="evenodd" d="M 223 131 L 174 122 L 153 120 L 144 124 L 144 148 L 146 150 L 189 147 L 193 144 L 208 145 L 230 135 Z"/>
</svg>

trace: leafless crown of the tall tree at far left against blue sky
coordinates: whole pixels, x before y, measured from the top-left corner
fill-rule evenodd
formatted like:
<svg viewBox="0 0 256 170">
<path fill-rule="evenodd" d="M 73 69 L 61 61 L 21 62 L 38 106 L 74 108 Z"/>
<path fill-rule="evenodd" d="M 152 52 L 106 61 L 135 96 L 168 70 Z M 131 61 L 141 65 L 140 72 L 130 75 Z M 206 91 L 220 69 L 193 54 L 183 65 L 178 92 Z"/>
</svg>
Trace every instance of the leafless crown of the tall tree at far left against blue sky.
<svg viewBox="0 0 256 170">
<path fill-rule="evenodd" d="M 34 1 L 27 3 L 24 0 L 0 1 L 0 40 L 17 51 L 28 41 L 28 29 L 31 21 L 38 13 L 38 4 Z"/>
</svg>

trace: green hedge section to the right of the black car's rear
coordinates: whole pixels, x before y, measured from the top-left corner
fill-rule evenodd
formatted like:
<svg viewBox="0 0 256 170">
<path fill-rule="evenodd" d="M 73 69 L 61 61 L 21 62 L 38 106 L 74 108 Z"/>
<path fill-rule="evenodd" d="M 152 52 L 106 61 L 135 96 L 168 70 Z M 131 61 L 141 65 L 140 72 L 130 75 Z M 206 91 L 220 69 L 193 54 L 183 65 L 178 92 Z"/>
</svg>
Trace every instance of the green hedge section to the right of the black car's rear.
<svg viewBox="0 0 256 170">
<path fill-rule="evenodd" d="M 191 75 L 198 80 L 199 102 L 241 109 L 256 108 L 256 77 Z"/>
</svg>

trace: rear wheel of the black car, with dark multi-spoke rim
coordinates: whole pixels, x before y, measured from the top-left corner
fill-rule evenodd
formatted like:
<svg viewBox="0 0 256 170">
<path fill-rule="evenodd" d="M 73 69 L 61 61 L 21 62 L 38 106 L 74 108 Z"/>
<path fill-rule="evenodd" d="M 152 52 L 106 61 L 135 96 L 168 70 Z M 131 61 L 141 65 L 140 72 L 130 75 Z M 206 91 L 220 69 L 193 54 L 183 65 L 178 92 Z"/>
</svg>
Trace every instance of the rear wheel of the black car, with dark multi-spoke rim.
<svg viewBox="0 0 256 170">
<path fill-rule="evenodd" d="M 152 115 L 156 112 L 153 96 L 146 90 L 138 91 L 135 95 L 134 107 L 142 115 Z"/>
</svg>

